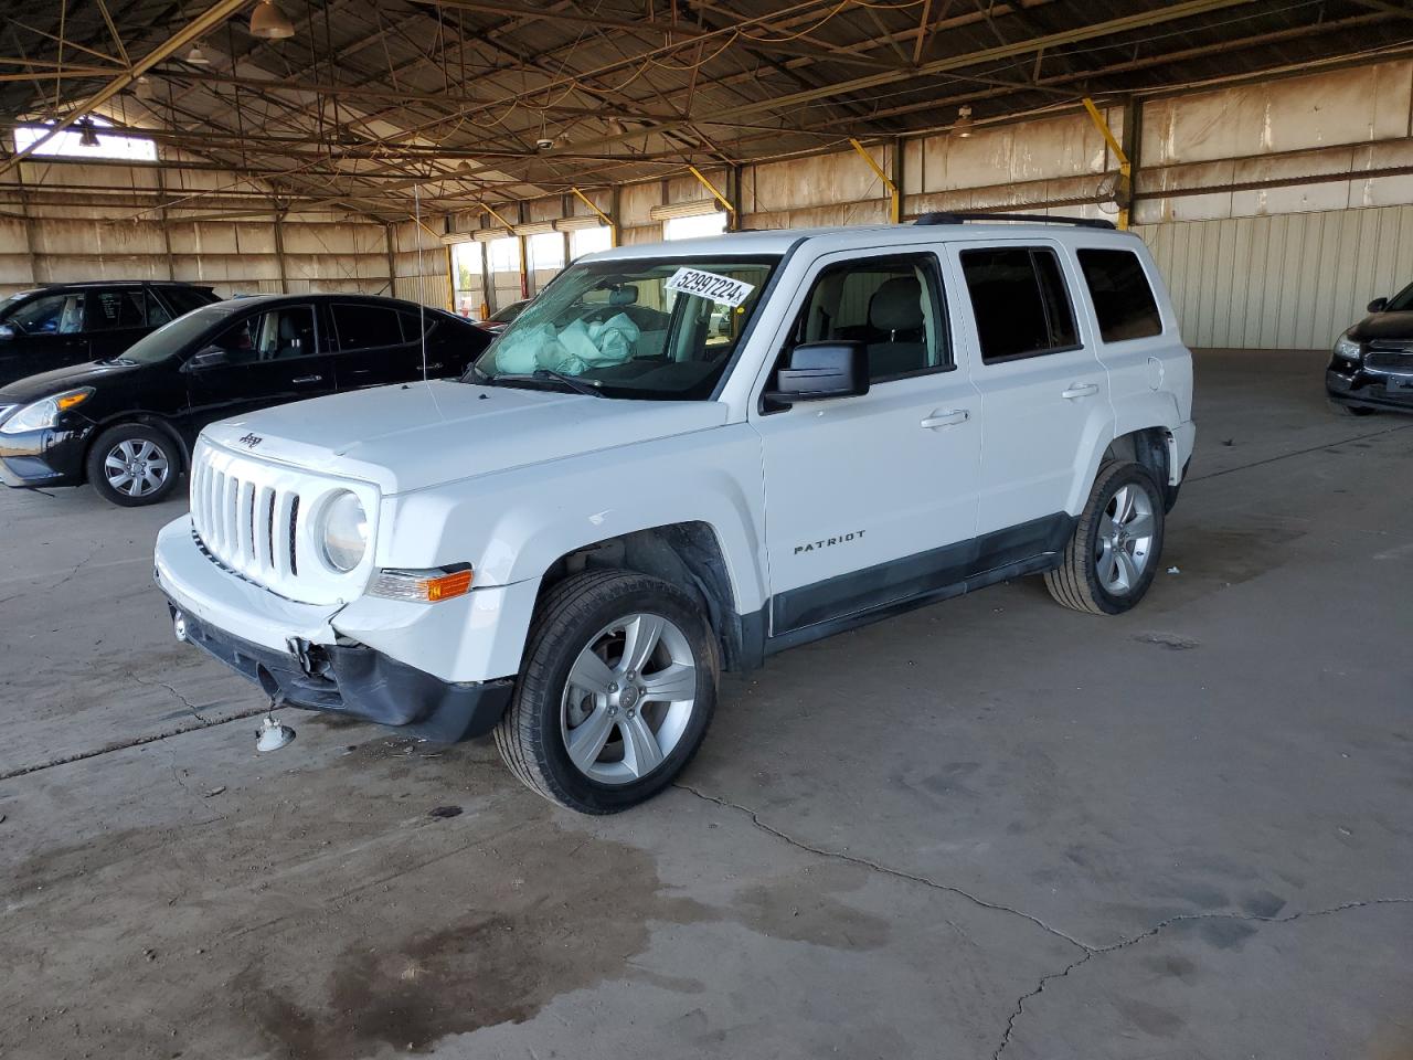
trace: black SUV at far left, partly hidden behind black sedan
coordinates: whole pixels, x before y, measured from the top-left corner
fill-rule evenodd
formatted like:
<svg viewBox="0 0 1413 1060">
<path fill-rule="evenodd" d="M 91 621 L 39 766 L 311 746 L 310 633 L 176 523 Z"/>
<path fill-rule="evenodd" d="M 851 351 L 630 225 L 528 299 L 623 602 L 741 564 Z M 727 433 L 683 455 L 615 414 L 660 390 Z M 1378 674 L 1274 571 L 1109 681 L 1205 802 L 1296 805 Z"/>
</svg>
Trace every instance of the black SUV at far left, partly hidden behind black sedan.
<svg viewBox="0 0 1413 1060">
<path fill-rule="evenodd" d="M 116 358 L 168 321 L 213 301 L 209 287 L 141 280 L 20 291 L 0 301 L 0 386 Z"/>
</svg>

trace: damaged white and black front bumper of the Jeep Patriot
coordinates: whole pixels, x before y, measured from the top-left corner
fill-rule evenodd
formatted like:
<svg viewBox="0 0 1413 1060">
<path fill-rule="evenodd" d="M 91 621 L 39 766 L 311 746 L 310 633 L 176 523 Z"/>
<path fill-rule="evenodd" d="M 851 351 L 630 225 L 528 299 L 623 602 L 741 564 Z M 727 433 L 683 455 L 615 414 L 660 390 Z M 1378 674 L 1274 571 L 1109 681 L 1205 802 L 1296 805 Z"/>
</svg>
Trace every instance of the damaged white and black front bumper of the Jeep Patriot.
<svg viewBox="0 0 1413 1060">
<path fill-rule="evenodd" d="M 439 742 L 489 732 L 510 702 L 512 678 L 444 680 L 341 635 L 342 605 L 288 601 L 225 571 L 196 547 L 189 520 L 158 534 L 154 578 L 182 639 L 276 702 Z"/>
</svg>

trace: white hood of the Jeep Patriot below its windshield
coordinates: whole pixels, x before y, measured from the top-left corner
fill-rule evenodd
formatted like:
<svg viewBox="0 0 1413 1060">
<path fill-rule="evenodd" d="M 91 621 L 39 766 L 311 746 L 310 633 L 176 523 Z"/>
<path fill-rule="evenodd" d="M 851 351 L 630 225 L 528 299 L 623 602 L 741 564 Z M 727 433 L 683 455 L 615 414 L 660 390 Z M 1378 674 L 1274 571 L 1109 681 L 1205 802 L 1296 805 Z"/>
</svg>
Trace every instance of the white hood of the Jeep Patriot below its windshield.
<svg viewBox="0 0 1413 1060">
<path fill-rule="evenodd" d="M 384 495 L 719 427 L 719 401 L 629 401 L 471 383 L 404 383 L 222 420 L 233 452 L 376 482 Z"/>
</svg>

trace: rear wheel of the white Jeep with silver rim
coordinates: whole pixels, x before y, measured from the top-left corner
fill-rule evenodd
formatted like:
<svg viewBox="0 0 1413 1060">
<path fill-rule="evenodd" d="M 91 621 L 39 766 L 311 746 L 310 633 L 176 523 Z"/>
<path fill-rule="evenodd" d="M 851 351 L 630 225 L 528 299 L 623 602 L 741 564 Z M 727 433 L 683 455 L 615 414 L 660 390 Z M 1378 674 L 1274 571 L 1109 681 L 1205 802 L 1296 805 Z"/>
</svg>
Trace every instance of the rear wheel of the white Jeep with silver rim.
<svg viewBox="0 0 1413 1060">
<path fill-rule="evenodd" d="M 1060 603 L 1089 615 L 1119 615 L 1153 584 L 1163 555 L 1163 490 L 1146 468 L 1099 468 L 1060 567 L 1046 587 Z"/>
</svg>

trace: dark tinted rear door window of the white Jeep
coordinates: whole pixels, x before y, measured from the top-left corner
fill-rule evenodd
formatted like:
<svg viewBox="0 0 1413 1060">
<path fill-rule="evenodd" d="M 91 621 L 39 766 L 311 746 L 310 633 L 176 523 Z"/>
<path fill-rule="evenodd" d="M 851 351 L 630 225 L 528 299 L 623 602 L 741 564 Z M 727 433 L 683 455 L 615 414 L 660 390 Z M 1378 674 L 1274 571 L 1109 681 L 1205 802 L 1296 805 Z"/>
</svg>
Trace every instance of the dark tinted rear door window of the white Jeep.
<svg viewBox="0 0 1413 1060">
<path fill-rule="evenodd" d="M 1078 345 L 1074 310 L 1053 250 L 962 250 L 961 263 L 983 363 L 1056 353 Z"/>
</svg>

